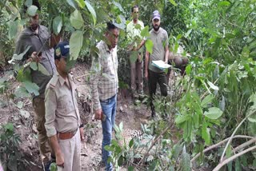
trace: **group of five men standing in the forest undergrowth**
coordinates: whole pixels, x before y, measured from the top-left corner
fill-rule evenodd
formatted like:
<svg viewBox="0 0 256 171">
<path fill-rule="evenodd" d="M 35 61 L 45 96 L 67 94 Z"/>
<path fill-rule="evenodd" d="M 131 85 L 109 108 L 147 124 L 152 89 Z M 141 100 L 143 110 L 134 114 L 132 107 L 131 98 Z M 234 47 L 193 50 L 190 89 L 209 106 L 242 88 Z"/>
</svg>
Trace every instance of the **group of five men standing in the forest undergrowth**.
<svg viewBox="0 0 256 171">
<path fill-rule="evenodd" d="M 33 1 L 34 6 L 40 5 Z M 130 40 L 140 36 L 136 25 L 144 27 L 138 20 L 138 6 L 132 8 L 133 21 L 127 26 Z M 158 10 L 152 15 L 153 29 L 150 39 L 154 42 L 153 53 L 146 51 L 145 78 L 149 82 L 150 97 L 160 85 L 163 96 L 167 95 L 166 74 L 152 65 L 153 60 L 167 63 L 169 48 L 168 34 L 160 27 Z M 117 44 L 119 30 L 108 22 L 105 36 L 107 41 L 98 42 L 98 53 L 93 57 L 90 85 L 94 102 L 94 117 L 102 121 L 102 162 L 106 170 L 113 170 L 113 165 L 107 162 L 110 151 L 104 149 L 110 145 L 114 131 L 114 121 L 118 93 L 118 56 Z M 84 139 L 83 124 L 78 111 L 78 94 L 72 75 L 70 74 L 70 46 L 68 42 L 60 42 L 59 36 L 49 34 L 45 26 L 39 25 L 39 15 L 30 16 L 30 23 L 18 37 L 15 54 L 22 54 L 28 46 L 30 49 L 24 55 L 21 63 L 38 62 L 45 67 L 49 75 L 39 70 L 31 70 L 32 82 L 39 86 L 39 95 L 33 97 L 38 129 L 38 145 L 40 153 L 46 160 L 53 158 L 58 170 L 77 171 L 81 169 L 81 141 Z M 50 40 L 50 41 L 49 41 Z M 146 38 L 133 47 L 140 50 Z M 54 42 L 54 43 L 53 43 Z M 131 62 L 131 89 L 135 87 L 135 77 L 138 76 L 138 93 L 143 93 L 142 52 L 138 60 Z M 106 77 L 107 75 L 107 77 Z M 152 102 L 151 102 L 152 104 Z M 151 105 L 154 116 L 154 105 Z"/>
</svg>

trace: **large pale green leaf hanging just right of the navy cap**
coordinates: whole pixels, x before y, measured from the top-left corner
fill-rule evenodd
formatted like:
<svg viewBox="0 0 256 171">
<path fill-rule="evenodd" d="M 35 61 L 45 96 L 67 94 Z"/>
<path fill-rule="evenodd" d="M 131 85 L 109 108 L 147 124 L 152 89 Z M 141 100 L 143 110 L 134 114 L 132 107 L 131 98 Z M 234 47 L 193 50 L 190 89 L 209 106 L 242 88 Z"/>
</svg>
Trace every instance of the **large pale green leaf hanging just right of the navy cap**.
<svg viewBox="0 0 256 171">
<path fill-rule="evenodd" d="M 71 34 L 70 37 L 70 58 L 72 60 L 76 60 L 78 58 L 78 54 L 82 48 L 82 31 L 76 30 Z"/>
</svg>

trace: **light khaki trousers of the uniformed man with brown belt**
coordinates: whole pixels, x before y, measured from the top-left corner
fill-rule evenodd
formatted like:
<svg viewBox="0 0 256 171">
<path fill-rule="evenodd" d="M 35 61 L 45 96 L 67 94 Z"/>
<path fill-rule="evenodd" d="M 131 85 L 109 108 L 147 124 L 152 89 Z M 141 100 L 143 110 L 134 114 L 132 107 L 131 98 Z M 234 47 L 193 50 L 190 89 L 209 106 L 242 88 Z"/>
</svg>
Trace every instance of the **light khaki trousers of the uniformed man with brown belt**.
<svg viewBox="0 0 256 171">
<path fill-rule="evenodd" d="M 58 166 L 58 171 L 81 170 L 81 139 L 78 129 L 74 137 L 66 140 L 58 140 L 58 145 L 64 157 L 64 168 Z"/>
</svg>

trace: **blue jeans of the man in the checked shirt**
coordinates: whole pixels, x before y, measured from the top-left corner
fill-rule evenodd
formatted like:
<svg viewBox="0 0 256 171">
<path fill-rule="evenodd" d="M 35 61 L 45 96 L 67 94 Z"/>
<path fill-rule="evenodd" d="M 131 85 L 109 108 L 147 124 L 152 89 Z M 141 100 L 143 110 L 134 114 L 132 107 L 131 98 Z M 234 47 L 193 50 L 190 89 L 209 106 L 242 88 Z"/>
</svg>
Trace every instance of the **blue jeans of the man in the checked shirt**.
<svg viewBox="0 0 256 171">
<path fill-rule="evenodd" d="M 104 161 L 106 170 L 113 169 L 112 163 L 107 163 L 107 158 L 110 157 L 111 152 L 104 149 L 105 145 L 111 144 L 112 130 L 114 130 L 114 120 L 117 108 L 117 95 L 110 97 L 106 101 L 100 101 L 102 105 L 102 112 L 106 116 L 105 121 L 102 121 L 102 161 Z"/>
</svg>

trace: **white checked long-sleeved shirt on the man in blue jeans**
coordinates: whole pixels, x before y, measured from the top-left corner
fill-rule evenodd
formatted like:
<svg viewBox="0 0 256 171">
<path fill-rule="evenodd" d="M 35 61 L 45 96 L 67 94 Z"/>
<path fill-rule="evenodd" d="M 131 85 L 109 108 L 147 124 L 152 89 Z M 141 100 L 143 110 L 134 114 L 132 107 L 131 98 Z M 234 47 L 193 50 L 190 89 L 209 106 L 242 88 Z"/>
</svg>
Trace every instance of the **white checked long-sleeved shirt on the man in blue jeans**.
<svg viewBox="0 0 256 171">
<path fill-rule="evenodd" d="M 93 58 L 90 86 L 94 110 L 102 109 L 100 100 L 105 101 L 118 93 L 117 47 L 110 50 L 106 42 L 97 45 L 98 57 Z"/>
</svg>

